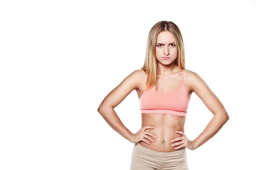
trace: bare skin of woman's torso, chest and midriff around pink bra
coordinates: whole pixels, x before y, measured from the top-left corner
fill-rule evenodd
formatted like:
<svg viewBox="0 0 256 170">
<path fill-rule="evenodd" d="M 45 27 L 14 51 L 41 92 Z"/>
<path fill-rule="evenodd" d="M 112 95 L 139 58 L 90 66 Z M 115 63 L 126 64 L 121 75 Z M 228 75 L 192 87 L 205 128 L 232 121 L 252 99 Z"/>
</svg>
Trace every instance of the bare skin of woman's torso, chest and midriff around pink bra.
<svg viewBox="0 0 256 170">
<path fill-rule="evenodd" d="M 142 71 L 142 70 L 141 70 Z M 140 99 L 141 94 L 143 94 L 143 91 L 146 87 L 146 80 L 147 75 L 142 71 L 142 74 L 144 75 L 143 79 L 140 81 L 139 87 L 136 89 L 138 98 Z M 188 74 L 189 70 L 183 69 L 183 79 L 184 79 L 184 85 L 188 93 L 188 98 L 190 100 L 192 90 L 191 86 L 189 85 L 188 81 Z M 157 90 L 159 91 L 175 91 L 180 82 L 180 71 L 174 73 L 170 77 L 163 77 L 157 75 Z M 171 83 L 172 82 L 172 83 Z M 140 141 L 139 143 L 148 149 L 155 150 L 158 152 L 173 152 L 176 151 L 175 147 L 173 147 L 171 144 L 171 140 L 175 139 L 177 137 L 181 137 L 180 134 L 175 133 L 175 130 L 180 130 L 184 132 L 184 125 L 185 125 L 185 116 L 178 116 L 178 115 L 170 115 L 170 114 L 158 114 L 158 113 L 142 113 L 142 126 L 154 126 L 154 129 L 147 129 L 146 131 L 153 133 L 157 136 L 157 139 L 155 139 L 155 142 L 151 142 L 152 145 L 149 145 L 143 141 Z M 185 133 L 185 132 L 184 132 Z M 185 133 L 186 134 L 186 133 Z M 163 147 L 163 139 L 165 139 L 165 147 Z M 148 139 L 146 139 L 148 140 Z M 180 142 L 180 141 L 177 141 Z M 177 143 L 173 142 L 173 143 Z M 184 147 L 177 149 L 181 150 Z"/>
</svg>

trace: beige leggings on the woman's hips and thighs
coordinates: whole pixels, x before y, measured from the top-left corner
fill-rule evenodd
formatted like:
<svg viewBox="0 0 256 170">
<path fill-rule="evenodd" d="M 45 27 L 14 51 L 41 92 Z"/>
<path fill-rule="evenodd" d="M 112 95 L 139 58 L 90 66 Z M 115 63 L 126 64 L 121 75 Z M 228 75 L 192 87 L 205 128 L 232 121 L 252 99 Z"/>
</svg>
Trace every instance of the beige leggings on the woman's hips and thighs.
<svg viewBox="0 0 256 170">
<path fill-rule="evenodd" d="M 157 152 L 134 144 L 130 170 L 189 170 L 186 147 L 173 152 Z"/>
</svg>

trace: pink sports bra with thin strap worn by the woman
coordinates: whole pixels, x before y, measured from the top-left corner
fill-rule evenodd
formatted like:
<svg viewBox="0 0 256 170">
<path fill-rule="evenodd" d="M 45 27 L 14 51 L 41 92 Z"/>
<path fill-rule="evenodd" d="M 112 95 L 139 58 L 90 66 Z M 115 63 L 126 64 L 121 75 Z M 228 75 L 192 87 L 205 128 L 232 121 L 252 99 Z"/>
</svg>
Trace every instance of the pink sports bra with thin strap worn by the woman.
<svg viewBox="0 0 256 170">
<path fill-rule="evenodd" d="M 172 92 L 155 91 L 155 86 L 148 92 L 143 92 L 140 97 L 141 113 L 161 113 L 186 116 L 189 96 L 183 82 L 183 69 L 181 70 L 182 81 L 180 87 Z"/>
</svg>

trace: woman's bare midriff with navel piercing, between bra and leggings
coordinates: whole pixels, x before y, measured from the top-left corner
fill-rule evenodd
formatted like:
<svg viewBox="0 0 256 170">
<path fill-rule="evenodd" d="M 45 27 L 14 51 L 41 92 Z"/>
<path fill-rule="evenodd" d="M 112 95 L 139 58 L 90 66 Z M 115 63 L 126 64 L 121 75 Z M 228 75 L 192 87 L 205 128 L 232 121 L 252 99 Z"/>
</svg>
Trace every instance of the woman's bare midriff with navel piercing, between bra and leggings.
<svg viewBox="0 0 256 170">
<path fill-rule="evenodd" d="M 181 134 L 175 133 L 175 130 L 184 132 L 185 125 L 185 116 L 170 115 L 170 114 L 159 114 L 159 113 L 141 113 L 142 118 L 142 127 L 144 126 L 154 126 L 154 129 L 146 129 L 153 135 L 157 136 L 155 142 L 151 142 L 148 139 L 148 142 L 151 142 L 152 145 L 140 141 L 139 143 L 148 149 L 155 150 L 158 152 L 173 152 L 176 150 L 182 150 L 185 147 L 175 149 L 177 146 L 172 146 L 180 141 L 171 142 L 172 139 L 181 137 Z M 185 133 L 185 132 L 184 132 Z M 185 133 L 186 134 L 186 133 Z M 163 142 L 164 141 L 164 142 Z"/>
</svg>

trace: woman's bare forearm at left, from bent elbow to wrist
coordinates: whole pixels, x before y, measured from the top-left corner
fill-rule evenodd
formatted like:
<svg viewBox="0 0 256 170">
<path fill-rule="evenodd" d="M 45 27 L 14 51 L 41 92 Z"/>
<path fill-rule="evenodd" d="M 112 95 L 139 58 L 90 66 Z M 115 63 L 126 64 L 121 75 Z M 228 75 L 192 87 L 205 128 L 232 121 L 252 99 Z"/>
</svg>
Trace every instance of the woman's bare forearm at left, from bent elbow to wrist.
<svg viewBox="0 0 256 170">
<path fill-rule="evenodd" d="M 105 119 L 105 121 L 110 125 L 113 130 L 123 136 L 125 139 L 130 141 L 131 131 L 123 125 L 119 117 L 117 116 L 115 110 L 112 107 L 100 107 L 98 109 L 100 115 Z"/>
</svg>

